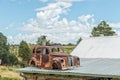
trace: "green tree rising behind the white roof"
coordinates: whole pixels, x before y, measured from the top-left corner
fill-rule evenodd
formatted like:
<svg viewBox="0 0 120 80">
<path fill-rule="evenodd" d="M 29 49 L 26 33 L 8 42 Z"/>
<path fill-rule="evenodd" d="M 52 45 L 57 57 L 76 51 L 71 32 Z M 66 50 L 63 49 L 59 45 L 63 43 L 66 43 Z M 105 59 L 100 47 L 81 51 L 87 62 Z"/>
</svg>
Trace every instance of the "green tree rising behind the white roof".
<svg viewBox="0 0 120 80">
<path fill-rule="evenodd" d="M 115 35 L 115 31 L 112 30 L 112 28 L 105 22 L 101 21 L 100 24 L 98 24 L 97 27 L 94 27 L 92 29 L 91 35 L 93 37 L 98 37 L 98 36 L 113 36 Z"/>
</svg>

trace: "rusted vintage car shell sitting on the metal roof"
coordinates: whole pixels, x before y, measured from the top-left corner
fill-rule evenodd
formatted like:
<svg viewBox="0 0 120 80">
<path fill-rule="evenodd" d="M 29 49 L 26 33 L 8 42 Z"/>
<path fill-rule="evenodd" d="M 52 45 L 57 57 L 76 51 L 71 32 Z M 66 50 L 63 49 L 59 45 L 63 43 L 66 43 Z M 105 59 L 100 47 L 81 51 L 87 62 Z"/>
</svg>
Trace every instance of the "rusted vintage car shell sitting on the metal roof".
<svg viewBox="0 0 120 80">
<path fill-rule="evenodd" d="M 61 46 L 35 46 L 29 65 L 43 69 L 70 69 L 80 66 L 80 59 L 64 53 Z"/>
</svg>

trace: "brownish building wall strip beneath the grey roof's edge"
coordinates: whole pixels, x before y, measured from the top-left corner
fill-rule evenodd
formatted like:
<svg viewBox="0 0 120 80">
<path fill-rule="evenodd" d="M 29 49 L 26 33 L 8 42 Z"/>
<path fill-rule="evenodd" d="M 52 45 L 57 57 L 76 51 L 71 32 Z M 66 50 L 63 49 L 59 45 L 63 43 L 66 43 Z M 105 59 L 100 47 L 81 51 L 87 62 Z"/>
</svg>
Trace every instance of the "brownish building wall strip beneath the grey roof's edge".
<svg viewBox="0 0 120 80">
<path fill-rule="evenodd" d="M 24 73 L 25 80 L 120 80 L 120 78 Z"/>
</svg>

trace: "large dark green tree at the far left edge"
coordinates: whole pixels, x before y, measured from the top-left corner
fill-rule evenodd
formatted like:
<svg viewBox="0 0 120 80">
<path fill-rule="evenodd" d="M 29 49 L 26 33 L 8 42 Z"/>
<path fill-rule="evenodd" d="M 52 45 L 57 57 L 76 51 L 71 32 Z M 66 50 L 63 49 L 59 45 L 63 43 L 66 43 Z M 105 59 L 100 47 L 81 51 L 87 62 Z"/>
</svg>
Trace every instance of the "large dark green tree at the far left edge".
<svg viewBox="0 0 120 80">
<path fill-rule="evenodd" d="M 7 43 L 7 37 L 0 33 L 0 59 L 3 65 L 17 64 L 17 57 L 10 53 L 10 45 Z"/>
</svg>

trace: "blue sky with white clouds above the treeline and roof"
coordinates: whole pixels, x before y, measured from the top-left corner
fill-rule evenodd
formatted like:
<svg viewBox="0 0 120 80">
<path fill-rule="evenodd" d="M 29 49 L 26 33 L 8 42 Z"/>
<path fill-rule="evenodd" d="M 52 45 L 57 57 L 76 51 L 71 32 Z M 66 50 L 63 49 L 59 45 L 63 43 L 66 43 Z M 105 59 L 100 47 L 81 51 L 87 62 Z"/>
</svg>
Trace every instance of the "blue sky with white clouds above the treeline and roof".
<svg viewBox="0 0 120 80">
<path fill-rule="evenodd" d="M 120 0 L 0 0 L 0 31 L 9 43 L 76 43 L 105 20 L 119 35 Z"/>
</svg>

